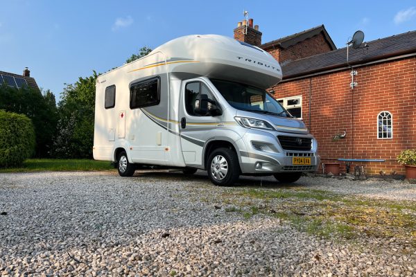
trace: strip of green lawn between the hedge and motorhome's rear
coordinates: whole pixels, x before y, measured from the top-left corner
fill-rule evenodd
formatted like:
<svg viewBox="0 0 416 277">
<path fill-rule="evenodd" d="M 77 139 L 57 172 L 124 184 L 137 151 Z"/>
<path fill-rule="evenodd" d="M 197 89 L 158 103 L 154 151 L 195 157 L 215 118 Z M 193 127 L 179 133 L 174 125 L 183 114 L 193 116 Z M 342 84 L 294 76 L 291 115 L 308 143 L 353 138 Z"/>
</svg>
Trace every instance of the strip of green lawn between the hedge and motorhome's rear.
<svg viewBox="0 0 416 277">
<path fill-rule="evenodd" d="M 0 172 L 114 170 L 109 161 L 89 159 L 28 159 L 21 168 L 3 168 Z"/>
</svg>

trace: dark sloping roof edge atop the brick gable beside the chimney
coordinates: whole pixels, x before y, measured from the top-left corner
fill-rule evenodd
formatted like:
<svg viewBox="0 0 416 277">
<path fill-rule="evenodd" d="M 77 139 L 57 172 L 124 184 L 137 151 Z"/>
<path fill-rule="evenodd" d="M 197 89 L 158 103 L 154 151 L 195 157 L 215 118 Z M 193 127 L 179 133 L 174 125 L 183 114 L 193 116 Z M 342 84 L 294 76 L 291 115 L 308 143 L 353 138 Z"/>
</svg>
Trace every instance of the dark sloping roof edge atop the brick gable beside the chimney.
<svg viewBox="0 0 416 277">
<path fill-rule="evenodd" d="M 316 26 L 315 28 L 304 30 L 300 33 L 295 33 L 287 37 L 281 37 L 280 39 L 273 40 L 272 42 L 261 44 L 261 46 L 259 47 L 265 51 L 267 51 L 270 48 L 277 48 L 277 47 L 286 49 L 289 46 L 293 46 L 297 44 L 298 42 L 302 42 L 305 39 L 314 37 L 315 35 L 318 35 L 321 32 L 324 35 L 325 39 L 327 40 L 329 46 L 332 48 L 332 50 L 336 50 L 336 46 L 335 44 L 333 44 L 331 37 L 329 37 L 327 30 L 325 30 L 324 25 Z"/>
</svg>

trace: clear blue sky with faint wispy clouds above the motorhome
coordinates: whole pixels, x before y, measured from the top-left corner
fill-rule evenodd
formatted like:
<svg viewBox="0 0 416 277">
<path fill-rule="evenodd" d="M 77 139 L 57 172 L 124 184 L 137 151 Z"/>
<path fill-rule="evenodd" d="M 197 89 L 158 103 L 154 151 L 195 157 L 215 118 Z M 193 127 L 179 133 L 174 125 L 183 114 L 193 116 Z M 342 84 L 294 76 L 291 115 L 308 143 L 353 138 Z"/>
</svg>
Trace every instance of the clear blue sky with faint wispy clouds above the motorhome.
<svg viewBox="0 0 416 277">
<path fill-rule="evenodd" d="M 416 2 L 401 1 L 12 1 L 0 0 L 0 71 L 25 66 L 59 98 L 64 83 L 120 66 L 142 46 L 175 37 L 232 37 L 243 10 L 262 42 L 324 24 L 338 48 L 416 30 Z"/>
</svg>

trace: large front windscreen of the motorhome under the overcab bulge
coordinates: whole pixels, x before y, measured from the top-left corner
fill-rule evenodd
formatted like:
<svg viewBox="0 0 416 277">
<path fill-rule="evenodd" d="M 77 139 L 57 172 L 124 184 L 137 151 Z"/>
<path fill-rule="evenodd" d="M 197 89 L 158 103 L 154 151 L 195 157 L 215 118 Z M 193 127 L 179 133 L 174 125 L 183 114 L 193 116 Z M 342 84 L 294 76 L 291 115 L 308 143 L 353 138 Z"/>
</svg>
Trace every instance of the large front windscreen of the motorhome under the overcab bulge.
<svg viewBox="0 0 416 277">
<path fill-rule="evenodd" d="M 254 111 L 261 114 L 292 117 L 280 103 L 263 89 L 250 87 L 247 84 L 223 80 L 211 80 L 216 89 L 227 100 L 229 105 L 243 111 Z"/>
</svg>

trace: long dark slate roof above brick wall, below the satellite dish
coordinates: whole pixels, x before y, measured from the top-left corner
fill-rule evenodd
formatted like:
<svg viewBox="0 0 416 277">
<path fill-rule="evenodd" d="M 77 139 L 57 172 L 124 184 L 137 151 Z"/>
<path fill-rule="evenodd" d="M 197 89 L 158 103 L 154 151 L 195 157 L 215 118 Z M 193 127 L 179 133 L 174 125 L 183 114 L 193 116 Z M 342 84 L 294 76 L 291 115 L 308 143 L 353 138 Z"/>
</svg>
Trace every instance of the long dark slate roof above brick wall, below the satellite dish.
<svg viewBox="0 0 416 277">
<path fill-rule="evenodd" d="M 358 49 L 350 47 L 349 64 L 354 66 L 412 53 L 416 55 L 416 31 L 364 42 Z M 282 66 L 281 71 L 283 79 L 288 79 L 345 66 L 348 66 L 346 47 L 289 62 Z"/>
</svg>

